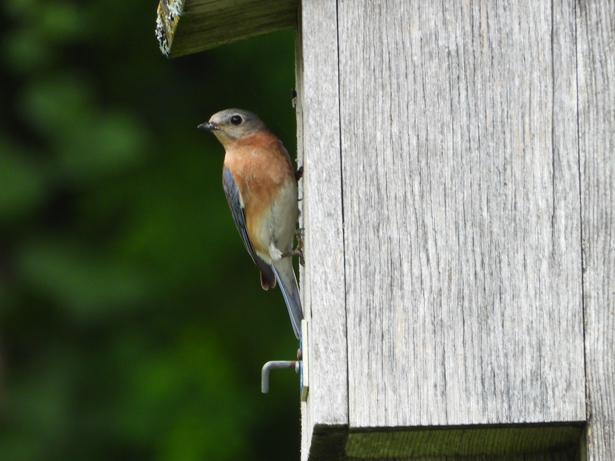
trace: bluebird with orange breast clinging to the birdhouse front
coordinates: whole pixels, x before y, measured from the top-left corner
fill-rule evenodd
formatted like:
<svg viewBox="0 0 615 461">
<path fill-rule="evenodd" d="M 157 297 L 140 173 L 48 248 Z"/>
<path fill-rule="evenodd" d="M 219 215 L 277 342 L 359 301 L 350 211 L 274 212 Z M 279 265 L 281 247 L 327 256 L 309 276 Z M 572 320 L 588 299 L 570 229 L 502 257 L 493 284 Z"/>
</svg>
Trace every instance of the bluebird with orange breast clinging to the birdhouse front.
<svg viewBox="0 0 615 461">
<path fill-rule="evenodd" d="M 295 172 L 282 141 L 253 112 L 225 109 L 198 128 L 224 147 L 222 184 L 232 218 L 260 269 L 263 290 L 280 286 L 299 339 L 303 310 L 292 256 L 303 169 Z"/>
</svg>

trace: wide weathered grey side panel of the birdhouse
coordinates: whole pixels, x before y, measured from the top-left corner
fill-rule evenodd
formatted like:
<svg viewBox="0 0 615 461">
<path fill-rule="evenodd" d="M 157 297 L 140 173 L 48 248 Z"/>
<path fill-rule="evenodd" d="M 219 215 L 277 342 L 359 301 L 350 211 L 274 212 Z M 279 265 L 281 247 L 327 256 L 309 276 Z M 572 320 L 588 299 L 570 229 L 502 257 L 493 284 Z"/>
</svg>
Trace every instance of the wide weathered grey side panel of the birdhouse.
<svg viewBox="0 0 615 461">
<path fill-rule="evenodd" d="M 338 24 L 349 426 L 584 420 L 574 3 Z"/>
</svg>

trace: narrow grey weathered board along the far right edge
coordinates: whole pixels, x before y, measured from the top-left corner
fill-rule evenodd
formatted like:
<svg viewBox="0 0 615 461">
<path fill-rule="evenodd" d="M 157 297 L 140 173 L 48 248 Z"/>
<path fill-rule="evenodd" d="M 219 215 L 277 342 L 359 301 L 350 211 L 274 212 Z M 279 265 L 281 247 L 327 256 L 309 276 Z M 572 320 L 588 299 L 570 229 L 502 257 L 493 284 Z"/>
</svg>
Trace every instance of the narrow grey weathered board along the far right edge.
<svg viewBox="0 0 615 461">
<path fill-rule="evenodd" d="M 615 4 L 579 1 L 587 460 L 615 457 Z"/>
</svg>

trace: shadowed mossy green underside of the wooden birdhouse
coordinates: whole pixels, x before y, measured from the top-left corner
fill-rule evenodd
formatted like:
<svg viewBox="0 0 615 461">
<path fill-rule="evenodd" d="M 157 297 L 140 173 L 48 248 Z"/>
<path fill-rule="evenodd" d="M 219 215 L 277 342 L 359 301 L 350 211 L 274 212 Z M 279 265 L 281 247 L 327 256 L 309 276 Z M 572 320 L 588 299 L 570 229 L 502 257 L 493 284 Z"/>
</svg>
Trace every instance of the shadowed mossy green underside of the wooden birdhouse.
<svg viewBox="0 0 615 461">
<path fill-rule="evenodd" d="M 319 461 L 578 460 L 584 423 L 363 428 L 315 425 L 309 459 Z M 531 456 L 530 456 L 531 455 Z"/>
</svg>

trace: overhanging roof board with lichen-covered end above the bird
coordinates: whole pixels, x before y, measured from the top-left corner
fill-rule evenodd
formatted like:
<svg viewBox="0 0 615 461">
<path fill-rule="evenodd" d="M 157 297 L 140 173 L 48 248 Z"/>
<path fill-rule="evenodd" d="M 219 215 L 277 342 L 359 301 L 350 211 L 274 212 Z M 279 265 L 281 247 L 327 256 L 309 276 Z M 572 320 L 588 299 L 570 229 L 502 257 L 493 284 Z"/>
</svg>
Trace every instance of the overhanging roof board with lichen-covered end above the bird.
<svg viewBox="0 0 615 461">
<path fill-rule="evenodd" d="M 160 0 L 156 37 L 178 57 L 296 25 L 298 0 Z"/>
</svg>

